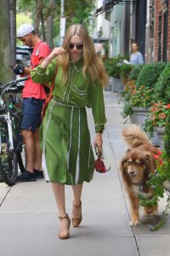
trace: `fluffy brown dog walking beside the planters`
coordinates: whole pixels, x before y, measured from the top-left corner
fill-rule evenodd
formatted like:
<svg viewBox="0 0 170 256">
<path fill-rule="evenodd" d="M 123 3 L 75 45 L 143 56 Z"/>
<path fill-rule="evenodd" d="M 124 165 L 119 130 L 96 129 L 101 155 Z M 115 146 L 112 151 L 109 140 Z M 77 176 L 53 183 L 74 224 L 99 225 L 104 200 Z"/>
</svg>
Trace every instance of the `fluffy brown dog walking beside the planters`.
<svg viewBox="0 0 170 256">
<path fill-rule="evenodd" d="M 151 196 L 150 189 L 146 182 L 149 180 L 150 172 L 155 172 L 157 148 L 154 147 L 149 138 L 137 125 L 130 125 L 123 129 L 122 136 L 130 146 L 121 161 L 120 170 L 122 179 L 126 185 L 129 195 L 132 214 L 130 225 L 139 224 L 139 197 L 138 194 Z M 149 216 L 156 212 L 157 206 L 144 207 L 144 215 Z"/>
</svg>

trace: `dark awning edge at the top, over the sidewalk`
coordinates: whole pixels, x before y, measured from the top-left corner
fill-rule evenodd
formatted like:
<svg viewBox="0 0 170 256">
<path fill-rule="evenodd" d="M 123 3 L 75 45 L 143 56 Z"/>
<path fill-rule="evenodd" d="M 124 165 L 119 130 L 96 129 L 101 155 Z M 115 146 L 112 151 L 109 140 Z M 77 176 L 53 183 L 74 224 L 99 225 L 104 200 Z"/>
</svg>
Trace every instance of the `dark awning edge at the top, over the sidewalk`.
<svg viewBox="0 0 170 256">
<path fill-rule="evenodd" d="M 101 15 L 104 13 L 106 10 L 111 9 L 116 4 L 131 4 L 131 3 L 136 3 L 136 0 L 104 0 L 103 6 L 100 7 L 99 9 L 96 9 L 95 15 Z"/>
</svg>

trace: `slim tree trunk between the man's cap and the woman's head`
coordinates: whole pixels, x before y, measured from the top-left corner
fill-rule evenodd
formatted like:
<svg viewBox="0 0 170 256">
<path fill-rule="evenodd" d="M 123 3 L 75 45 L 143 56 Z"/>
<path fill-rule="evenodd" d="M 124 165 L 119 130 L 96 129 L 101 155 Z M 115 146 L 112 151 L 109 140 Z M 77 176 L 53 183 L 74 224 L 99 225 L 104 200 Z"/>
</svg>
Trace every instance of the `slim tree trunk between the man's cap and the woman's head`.
<svg viewBox="0 0 170 256">
<path fill-rule="evenodd" d="M 55 7 L 55 1 L 51 0 L 48 8 L 46 41 L 52 49 L 54 48 L 54 43 L 53 43 L 54 7 Z"/>
</svg>

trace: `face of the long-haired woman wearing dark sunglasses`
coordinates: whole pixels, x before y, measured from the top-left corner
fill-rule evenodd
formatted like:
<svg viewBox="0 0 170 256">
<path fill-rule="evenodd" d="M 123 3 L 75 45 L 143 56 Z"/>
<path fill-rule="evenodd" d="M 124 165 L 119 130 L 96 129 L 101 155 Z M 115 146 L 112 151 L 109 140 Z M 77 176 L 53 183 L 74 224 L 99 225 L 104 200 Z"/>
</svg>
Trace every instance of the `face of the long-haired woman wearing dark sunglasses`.
<svg viewBox="0 0 170 256">
<path fill-rule="evenodd" d="M 82 57 L 83 44 L 82 39 L 78 35 L 74 35 L 71 37 L 69 51 L 71 54 L 72 61 L 79 61 Z"/>
</svg>

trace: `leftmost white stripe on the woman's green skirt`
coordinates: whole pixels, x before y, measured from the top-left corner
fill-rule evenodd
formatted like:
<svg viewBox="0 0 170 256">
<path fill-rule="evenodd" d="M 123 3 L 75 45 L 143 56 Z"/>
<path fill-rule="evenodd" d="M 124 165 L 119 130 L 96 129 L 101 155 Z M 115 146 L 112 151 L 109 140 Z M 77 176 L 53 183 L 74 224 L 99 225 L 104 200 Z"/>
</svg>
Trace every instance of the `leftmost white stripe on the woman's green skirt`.
<svg viewBox="0 0 170 256">
<path fill-rule="evenodd" d="M 52 110 L 54 108 L 54 105 L 55 105 L 55 103 L 53 102 L 53 105 L 49 109 L 48 122 L 47 122 L 47 125 L 45 127 L 44 136 L 43 136 L 42 171 L 43 171 L 44 177 L 45 177 L 47 182 L 49 181 L 49 176 L 48 176 L 48 167 L 47 167 L 46 157 L 45 157 L 45 151 L 46 151 L 46 143 L 45 143 L 45 141 L 46 141 L 47 131 L 48 131 L 48 127 L 49 127 L 49 123 L 50 123 L 50 119 L 51 119 L 51 116 L 52 116 Z"/>
</svg>

